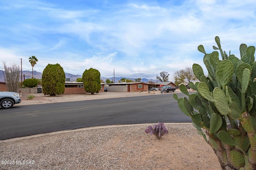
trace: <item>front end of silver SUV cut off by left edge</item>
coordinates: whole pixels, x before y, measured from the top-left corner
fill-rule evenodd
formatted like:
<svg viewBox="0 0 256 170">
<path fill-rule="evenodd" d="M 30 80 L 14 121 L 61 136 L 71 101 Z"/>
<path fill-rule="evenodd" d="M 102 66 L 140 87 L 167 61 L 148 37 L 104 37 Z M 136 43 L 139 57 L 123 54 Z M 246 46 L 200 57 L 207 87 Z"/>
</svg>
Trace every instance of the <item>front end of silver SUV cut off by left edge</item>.
<svg viewBox="0 0 256 170">
<path fill-rule="evenodd" d="M 0 106 L 3 109 L 11 108 L 21 102 L 20 94 L 15 92 L 0 92 Z"/>
</svg>

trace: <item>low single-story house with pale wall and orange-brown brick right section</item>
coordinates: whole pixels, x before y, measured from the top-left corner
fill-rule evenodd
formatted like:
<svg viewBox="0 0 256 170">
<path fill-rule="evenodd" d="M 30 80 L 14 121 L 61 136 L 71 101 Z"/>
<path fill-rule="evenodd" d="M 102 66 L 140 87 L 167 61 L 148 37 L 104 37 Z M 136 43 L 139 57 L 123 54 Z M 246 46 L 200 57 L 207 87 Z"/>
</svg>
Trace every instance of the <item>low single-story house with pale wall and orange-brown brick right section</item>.
<svg viewBox="0 0 256 170">
<path fill-rule="evenodd" d="M 144 82 L 122 82 L 108 84 L 108 92 L 139 92 L 148 91 L 149 83 Z"/>
</svg>

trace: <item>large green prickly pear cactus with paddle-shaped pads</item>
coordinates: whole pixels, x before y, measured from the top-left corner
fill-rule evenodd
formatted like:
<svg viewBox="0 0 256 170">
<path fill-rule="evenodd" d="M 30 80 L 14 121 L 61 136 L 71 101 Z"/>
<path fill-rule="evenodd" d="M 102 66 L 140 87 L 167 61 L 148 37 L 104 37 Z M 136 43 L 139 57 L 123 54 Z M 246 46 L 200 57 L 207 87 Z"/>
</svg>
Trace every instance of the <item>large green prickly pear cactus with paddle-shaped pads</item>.
<svg viewBox="0 0 256 170">
<path fill-rule="evenodd" d="M 223 170 L 256 170 L 256 62 L 255 47 L 240 45 L 240 59 L 222 51 L 219 37 L 215 37 L 218 51 L 207 54 L 203 45 L 205 76 L 199 64 L 193 72 L 200 82 L 190 82 L 196 90 L 180 90 L 188 98 L 174 98 L 182 112 L 191 117 L 194 127 L 212 147 Z"/>
</svg>

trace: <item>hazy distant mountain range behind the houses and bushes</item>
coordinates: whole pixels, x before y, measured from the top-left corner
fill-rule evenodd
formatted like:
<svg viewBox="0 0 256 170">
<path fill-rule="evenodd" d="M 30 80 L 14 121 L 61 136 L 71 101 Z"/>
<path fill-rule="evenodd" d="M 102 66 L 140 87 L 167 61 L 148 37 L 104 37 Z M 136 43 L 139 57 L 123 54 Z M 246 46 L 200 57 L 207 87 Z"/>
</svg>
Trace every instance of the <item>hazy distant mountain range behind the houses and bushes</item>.
<svg viewBox="0 0 256 170">
<path fill-rule="evenodd" d="M 34 71 L 34 78 L 38 78 L 41 79 L 42 78 L 42 72 L 37 72 Z M 70 74 L 70 73 L 66 73 L 66 79 L 70 79 L 71 82 L 76 81 L 77 78 L 82 78 L 82 75 L 74 75 L 74 74 Z M 28 79 L 28 78 L 32 78 L 32 71 L 22 71 L 22 80 Z M 135 81 L 135 78 L 128 78 L 128 77 L 115 77 L 115 83 L 118 82 L 118 80 L 121 80 L 122 78 L 126 78 L 132 81 Z M 100 77 L 101 80 L 103 80 L 104 82 L 106 82 L 107 79 L 109 79 L 110 81 L 114 81 L 114 77 Z M 4 71 L 0 70 L 0 81 L 4 81 Z M 147 79 L 147 78 L 142 78 L 141 82 L 148 82 L 148 81 L 152 81 L 152 82 L 156 82 L 156 80 L 153 79 Z"/>
</svg>

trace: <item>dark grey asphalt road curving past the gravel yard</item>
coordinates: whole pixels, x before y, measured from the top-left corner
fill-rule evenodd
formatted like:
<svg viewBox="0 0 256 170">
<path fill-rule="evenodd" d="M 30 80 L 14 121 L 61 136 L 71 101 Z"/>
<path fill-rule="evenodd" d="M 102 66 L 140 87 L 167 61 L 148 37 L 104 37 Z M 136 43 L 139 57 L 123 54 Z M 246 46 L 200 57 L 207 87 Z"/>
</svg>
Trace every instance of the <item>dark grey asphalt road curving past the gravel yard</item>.
<svg viewBox="0 0 256 170">
<path fill-rule="evenodd" d="M 192 122 L 180 111 L 172 95 L 17 104 L 11 109 L 0 109 L 0 140 L 100 125 Z"/>
</svg>

